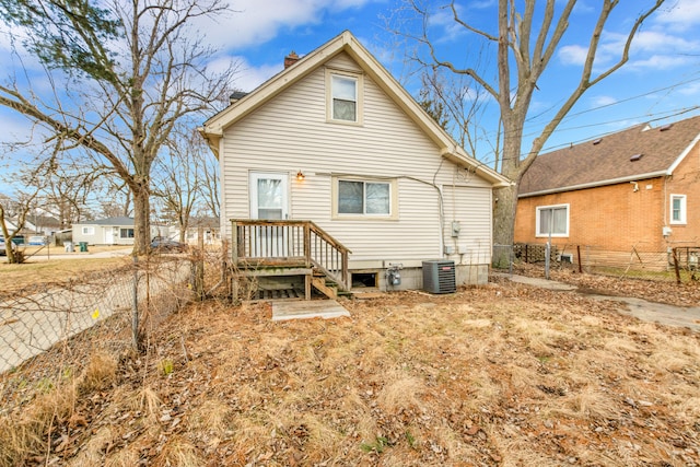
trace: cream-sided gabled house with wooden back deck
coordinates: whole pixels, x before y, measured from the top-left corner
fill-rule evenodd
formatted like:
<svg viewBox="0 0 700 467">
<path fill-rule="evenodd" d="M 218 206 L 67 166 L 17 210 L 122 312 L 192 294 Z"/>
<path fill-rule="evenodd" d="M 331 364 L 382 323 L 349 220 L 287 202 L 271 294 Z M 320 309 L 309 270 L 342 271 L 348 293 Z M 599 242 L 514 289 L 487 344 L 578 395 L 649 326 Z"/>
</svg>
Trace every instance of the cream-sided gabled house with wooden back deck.
<svg viewBox="0 0 700 467">
<path fill-rule="evenodd" d="M 284 65 L 200 128 L 220 162 L 234 259 L 267 242 L 257 256 L 318 267 L 327 260 L 308 252 L 323 248 L 305 238 L 293 250 L 284 233 L 304 220 L 347 257 L 346 289 L 420 289 L 427 260 L 454 261 L 458 284 L 486 282 L 492 188 L 510 180 L 459 148 L 350 32 Z M 331 262 L 319 268 L 341 268 Z M 400 283 L 387 281 L 395 265 Z"/>
</svg>

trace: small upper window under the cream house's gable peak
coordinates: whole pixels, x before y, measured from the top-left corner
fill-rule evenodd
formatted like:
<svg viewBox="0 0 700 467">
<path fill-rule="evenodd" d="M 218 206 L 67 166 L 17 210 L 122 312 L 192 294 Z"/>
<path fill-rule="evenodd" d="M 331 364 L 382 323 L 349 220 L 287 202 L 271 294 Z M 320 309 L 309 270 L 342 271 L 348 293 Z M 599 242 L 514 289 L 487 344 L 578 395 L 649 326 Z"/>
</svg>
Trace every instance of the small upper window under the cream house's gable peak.
<svg viewBox="0 0 700 467">
<path fill-rule="evenodd" d="M 362 74 L 326 70 L 327 118 L 329 121 L 362 121 Z"/>
</svg>

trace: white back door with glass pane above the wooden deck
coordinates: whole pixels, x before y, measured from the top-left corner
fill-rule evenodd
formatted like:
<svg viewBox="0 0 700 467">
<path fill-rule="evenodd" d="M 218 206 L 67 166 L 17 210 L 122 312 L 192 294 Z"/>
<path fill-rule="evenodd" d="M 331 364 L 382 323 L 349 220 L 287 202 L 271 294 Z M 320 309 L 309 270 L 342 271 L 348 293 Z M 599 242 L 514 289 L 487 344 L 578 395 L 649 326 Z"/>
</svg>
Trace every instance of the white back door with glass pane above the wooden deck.
<svg viewBox="0 0 700 467">
<path fill-rule="evenodd" d="M 250 219 L 272 221 L 289 218 L 289 175 L 276 172 L 250 173 Z"/>
</svg>

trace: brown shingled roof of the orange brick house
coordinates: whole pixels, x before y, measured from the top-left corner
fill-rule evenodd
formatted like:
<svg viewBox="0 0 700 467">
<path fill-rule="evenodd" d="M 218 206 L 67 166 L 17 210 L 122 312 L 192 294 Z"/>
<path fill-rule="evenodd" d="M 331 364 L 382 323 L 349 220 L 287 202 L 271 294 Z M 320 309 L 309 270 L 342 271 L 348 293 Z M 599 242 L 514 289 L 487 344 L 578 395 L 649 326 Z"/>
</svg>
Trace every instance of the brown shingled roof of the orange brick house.
<svg viewBox="0 0 700 467">
<path fill-rule="evenodd" d="M 675 124 L 637 125 L 537 156 L 518 197 L 592 188 L 672 175 L 700 140 L 700 116 Z"/>
</svg>

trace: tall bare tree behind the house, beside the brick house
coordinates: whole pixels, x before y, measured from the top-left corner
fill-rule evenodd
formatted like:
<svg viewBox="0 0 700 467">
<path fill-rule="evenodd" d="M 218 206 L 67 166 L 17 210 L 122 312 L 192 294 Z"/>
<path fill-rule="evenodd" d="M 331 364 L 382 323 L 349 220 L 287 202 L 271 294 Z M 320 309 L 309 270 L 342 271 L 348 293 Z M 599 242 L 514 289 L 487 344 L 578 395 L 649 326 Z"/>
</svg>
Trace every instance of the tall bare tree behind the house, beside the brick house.
<svg viewBox="0 0 700 467">
<path fill-rule="evenodd" d="M 474 67 L 460 67 L 441 55 L 436 47 L 436 40 L 431 38 L 428 33 L 430 11 L 427 5 L 429 3 L 422 4 L 419 0 L 409 1 L 411 10 L 418 13 L 422 20 L 421 33 L 413 37 L 428 47 L 431 62 L 425 65 L 450 70 L 456 75 L 468 77 L 498 103 L 504 135 L 500 171 L 513 180 L 513 186 L 501 188 L 495 192 L 498 202 L 494 211 L 494 242 L 511 245 L 514 237 L 517 189 L 523 174 L 579 98 L 588 89 L 619 70 L 628 61 L 630 47 L 637 32 L 643 22 L 664 3 L 664 0 L 653 0 L 651 4 L 646 2 L 648 7 L 640 5 L 640 9 L 643 10 L 635 19 L 629 21 L 625 33 L 626 40 L 619 50 L 617 61 L 603 70 L 596 70 L 595 74 L 593 65 L 598 57 L 600 36 L 620 0 L 600 0 L 595 2 L 596 7 L 588 4 L 588 8 L 596 9 L 598 16 L 590 31 L 588 49 L 578 81 L 568 85 L 563 82 L 559 83 L 562 89 L 571 91 L 556 109 L 551 120 L 524 153 L 522 150 L 524 127 L 533 93 L 537 89 L 539 78 L 562 44 L 578 0 L 547 0 L 544 8 L 540 9 L 536 9 L 536 0 L 523 2 L 499 0 L 498 22 L 494 32 L 479 28 L 475 23 L 469 22 L 452 1 L 448 8 L 455 26 L 465 32 L 469 39 L 476 38 L 485 46 L 494 45 L 497 69 L 492 79 L 488 72 L 480 72 Z M 539 4 L 541 5 L 541 2 Z M 557 10 L 559 11 L 557 12 Z M 469 46 L 466 46 L 465 51 L 468 49 Z M 494 258 L 497 265 L 503 260 L 506 258 Z"/>
</svg>

